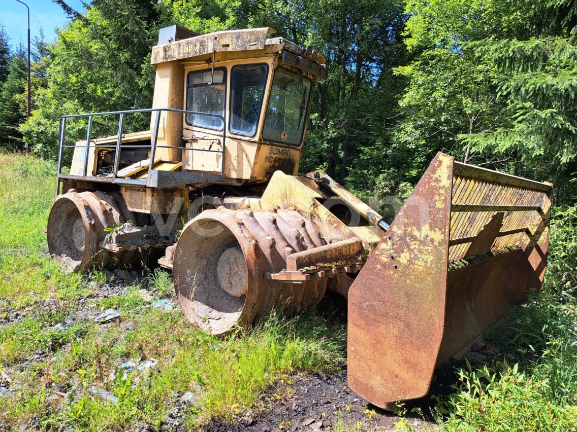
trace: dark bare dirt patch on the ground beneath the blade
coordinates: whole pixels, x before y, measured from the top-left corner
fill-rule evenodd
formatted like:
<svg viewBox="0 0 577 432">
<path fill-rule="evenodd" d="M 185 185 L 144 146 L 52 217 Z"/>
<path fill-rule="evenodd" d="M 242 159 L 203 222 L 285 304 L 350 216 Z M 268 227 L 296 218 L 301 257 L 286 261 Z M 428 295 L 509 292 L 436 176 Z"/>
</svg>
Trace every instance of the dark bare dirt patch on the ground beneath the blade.
<svg viewBox="0 0 577 432">
<path fill-rule="evenodd" d="M 346 325 L 346 306 L 346 300 L 327 291 L 317 308 L 330 322 Z M 505 352 L 504 347 L 479 340 L 466 357 L 473 368 L 477 368 L 502 359 Z M 433 420 L 436 401 L 432 396 L 444 397 L 455 392 L 454 386 L 458 384 L 456 370 L 459 367 L 466 367 L 464 359 L 438 368 L 428 395 L 404 404 L 404 419 L 369 404 L 351 391 L 344 366 L 342 370 L 329 375 L 306 374 L 285 378 L 261 397 L 261 406 L 265 407 L 263 410 L 246 412 L 230 422 L 212 420 L 204 429 L 209 432 L 354 431 L 357 428 L 381 431 L 398 430 L 399 425 L 411 430 L 442 430 Z M 423 416 L 429 420 L 424 420 Z"/>
</svg>

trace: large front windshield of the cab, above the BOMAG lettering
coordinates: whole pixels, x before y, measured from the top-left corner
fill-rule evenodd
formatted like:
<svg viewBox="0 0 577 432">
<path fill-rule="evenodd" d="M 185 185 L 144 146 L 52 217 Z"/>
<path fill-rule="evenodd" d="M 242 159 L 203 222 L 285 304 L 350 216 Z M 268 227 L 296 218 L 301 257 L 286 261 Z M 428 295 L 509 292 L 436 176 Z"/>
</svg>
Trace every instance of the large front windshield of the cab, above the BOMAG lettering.
<svg viewBox="0 0 577 432">
<path fill-rule="evenodd" d="M 276 68 L 264 120 L 264 139 L 290 145 L 301 143 L 310 85 L 310 79 L 301 73 Z"/>
</svg>

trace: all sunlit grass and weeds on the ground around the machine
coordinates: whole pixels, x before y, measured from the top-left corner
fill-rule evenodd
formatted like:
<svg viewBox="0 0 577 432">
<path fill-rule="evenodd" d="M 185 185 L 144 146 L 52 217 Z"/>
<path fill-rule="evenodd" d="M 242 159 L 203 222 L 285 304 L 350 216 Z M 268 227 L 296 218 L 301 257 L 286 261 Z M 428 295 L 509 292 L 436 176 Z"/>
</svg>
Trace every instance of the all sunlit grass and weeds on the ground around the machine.
<svg viewBox="0 0 577 432">
<path fill-rule="evenodd" d="M 47 252 L 43 228 L 54 198 L 54 164 L 0 153 L 0 166 L 0 319 L 24 314 L 0 324 L 0 369 L 13 381 L 13 393 L 0 395 L 6 429 L 159 428 L 185 392 L 196 399 L 186 408 L 185 426 L 200 429 L 211 418 L 264 408 L 263 392 L 288 374 L 344 363 L 344 329 L 314 308 L 302 317 L 272 314 L 252 331 L 238 329 L 220 339 L 189 325 L 178 308 L 149 307 L 140 289 L 174 301 L 170 274 L 163 270 L 150 272 L 124 295 L 91 301 L 87 296 L 110 275 L 65 274 Z M 458 371 L 454 395 L 437 397 L 433 418 L 440 427 L 574 429 L 577 300 L 574 275 L 567 271 L 571 257 L 559 253 L 572 233 L 559 233 L 552 233 L 551 250 L 564 264 L 552 268 L 565 270 L 516 306 L 514 320 L 486 336 L 507 347 L 502 361 Z M 119 309 L 121 317 L 96 324 L 87 308 Z M 54 328 L 71 316 L 76 319 L 69 328 Z M 158 363 L 145 372 L 122 369 L 130 359 Z M 411 428 L 402 418 L 396 425 Z M 334 429 L 360 426 L 341 413 Z"/>
</svg>

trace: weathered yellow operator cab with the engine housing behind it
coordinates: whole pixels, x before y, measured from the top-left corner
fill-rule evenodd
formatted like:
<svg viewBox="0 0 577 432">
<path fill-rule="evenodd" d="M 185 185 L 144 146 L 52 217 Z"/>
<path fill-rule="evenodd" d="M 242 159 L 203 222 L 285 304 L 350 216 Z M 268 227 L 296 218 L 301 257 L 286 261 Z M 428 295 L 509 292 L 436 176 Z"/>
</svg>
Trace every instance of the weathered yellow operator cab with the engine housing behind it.
<svg viewBox="0 0 577 432">
<path fill-rule="evenodd" d="M 78 141 L 71 176 L 161 187 L 295 175 L 314 83 L 327 70 L 316 50 L 274 32 L 162 29 L 152 109 L 138 110 L 151 112 L 150 130 Z"/>
</svg>

